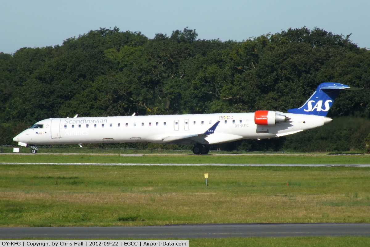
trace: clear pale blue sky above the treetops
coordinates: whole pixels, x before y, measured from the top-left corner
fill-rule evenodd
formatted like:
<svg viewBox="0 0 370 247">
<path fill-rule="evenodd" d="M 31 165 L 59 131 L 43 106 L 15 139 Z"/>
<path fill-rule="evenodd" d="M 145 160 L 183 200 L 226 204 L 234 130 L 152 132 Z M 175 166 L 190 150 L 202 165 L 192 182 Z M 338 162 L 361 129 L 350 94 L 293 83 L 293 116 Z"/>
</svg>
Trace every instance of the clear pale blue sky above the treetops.
<svg viewBox="0 0 370 247">
<path fill-rule="evenodd" d="M 369 0 L 0 0 L 0 52 L 61 45 L 100 27 L 171 35 L 185 27 L 200 39 L 242 41 L 306 26 L 347 35 L 370 49 Z"/>
</svg>

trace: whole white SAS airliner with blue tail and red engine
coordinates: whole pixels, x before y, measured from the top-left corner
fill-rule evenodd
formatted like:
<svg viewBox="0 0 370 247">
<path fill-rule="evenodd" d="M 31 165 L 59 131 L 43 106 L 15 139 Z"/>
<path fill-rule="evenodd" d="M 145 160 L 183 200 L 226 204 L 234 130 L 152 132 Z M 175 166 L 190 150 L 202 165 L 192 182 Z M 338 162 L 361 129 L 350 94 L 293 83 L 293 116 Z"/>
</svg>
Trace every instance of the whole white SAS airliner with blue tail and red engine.
<svg viewBox="0 0 370 247">
<path fill-rule="evenodd" d="M 339 91 L 347 85 L 324 82 L 300 108 L 288 113 L 185 114 L 109 116 L 44 119 L 13 138 L 20 146 L 155 142 L 194 145 L 195 154 L 209 152 L 209 145 L 241 139 L 263 139 L 294 134 L 332 121 L 326 117 Z M 351 88 L 356 89 L 356 88 Z"/>
</svg>

